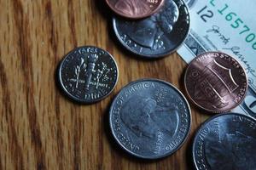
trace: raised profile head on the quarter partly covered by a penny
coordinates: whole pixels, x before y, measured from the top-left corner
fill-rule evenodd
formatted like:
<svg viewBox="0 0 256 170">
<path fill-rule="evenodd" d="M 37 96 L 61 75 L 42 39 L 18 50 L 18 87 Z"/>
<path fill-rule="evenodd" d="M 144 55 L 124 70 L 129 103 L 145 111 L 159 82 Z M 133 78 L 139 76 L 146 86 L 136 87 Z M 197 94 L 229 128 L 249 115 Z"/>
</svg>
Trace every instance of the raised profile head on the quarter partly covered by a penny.
<svg viewBox="0 0 256 170">
<path fill-rule="evenodd" d="M 126 34 L 144 48 L 157 49 L 156 44 L 164 34 L 172 32 L 177 19 L 177 5 L 168 0 L 159 13 L 144 20 L 127 22 Z"/>
</svg>

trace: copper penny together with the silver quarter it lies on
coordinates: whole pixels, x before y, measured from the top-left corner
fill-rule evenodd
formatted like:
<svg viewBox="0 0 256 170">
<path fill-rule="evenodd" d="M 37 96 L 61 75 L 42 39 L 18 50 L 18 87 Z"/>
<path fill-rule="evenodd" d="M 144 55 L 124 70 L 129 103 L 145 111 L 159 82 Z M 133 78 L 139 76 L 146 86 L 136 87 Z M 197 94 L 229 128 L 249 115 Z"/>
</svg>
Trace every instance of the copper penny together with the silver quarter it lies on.
<svg viewBox="0 0 256 170">
<path fill-rule="evenodd" d="M 174 52 L 189 33 L 189 10 L 183 0 L 106 0 L 119 42 L 133 54 L 159 58 Z"/>
</svg>

